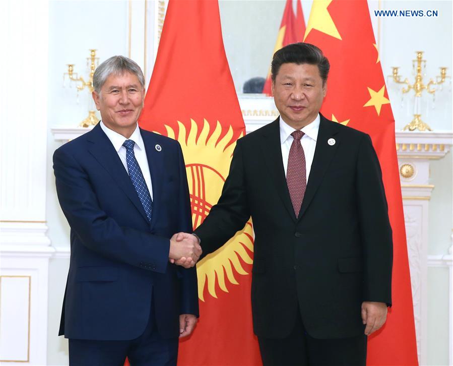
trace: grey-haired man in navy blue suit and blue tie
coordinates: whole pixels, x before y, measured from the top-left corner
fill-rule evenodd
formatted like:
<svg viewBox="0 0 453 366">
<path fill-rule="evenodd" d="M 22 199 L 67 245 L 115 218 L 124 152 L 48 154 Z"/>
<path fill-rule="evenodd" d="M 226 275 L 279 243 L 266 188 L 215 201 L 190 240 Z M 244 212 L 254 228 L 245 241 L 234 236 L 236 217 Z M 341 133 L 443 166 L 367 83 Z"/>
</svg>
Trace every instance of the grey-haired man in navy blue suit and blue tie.
<svg viewBox="0 0 453 366">
<path fill-rule="evenodd" d="M 182 151 L 138 127 L 144 86 L 131 59 L 99 65 L 93 99 L 102 120 L 53 155 L 71 226 L 59 330 L 71 365 L 122 365 L 126 356 L 133 366 L 176 364 L 178 337 L 199 316 L 201 247 L 173 235 L 192 228 Z"/>
</svg>

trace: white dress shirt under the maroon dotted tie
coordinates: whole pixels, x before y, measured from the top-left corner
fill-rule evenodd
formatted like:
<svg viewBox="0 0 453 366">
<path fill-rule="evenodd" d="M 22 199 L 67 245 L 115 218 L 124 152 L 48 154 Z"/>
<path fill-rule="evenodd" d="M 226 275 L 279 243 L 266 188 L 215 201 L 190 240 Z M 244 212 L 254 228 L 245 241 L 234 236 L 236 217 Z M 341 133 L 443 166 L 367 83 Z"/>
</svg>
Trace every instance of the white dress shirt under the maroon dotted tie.
<svg viewBox="0 0 453 366">
<path fill-rule="evenodd" d="M 308 176 L 310 175 L 311 170 L 311 163 L 313 162 L 314 156 L 314 149 L 316 148 L 316 140 L 318 137 L 318 130 L 319 130 L 319 122 L 321 118 L 319 117 L 319 113 L 307 126 L 301 129 L 304 133 L 302 138 L 300 139 L 300 143 L 302 145 L 303 151 L 305 153 L 305 166 L 307 171 L 307 182 Z M 283 167 L 286 170 L 288 168 L 288 157 L 289 157 L 289 150 L 291 148 L 291 144 L 294 141 L 294 138 L 291 134 L 296 131 L 291 126 L 289 126 L 280 116 L 280 143 L 282 144 L 282 157 L 283 157 Z"/>
</svg>

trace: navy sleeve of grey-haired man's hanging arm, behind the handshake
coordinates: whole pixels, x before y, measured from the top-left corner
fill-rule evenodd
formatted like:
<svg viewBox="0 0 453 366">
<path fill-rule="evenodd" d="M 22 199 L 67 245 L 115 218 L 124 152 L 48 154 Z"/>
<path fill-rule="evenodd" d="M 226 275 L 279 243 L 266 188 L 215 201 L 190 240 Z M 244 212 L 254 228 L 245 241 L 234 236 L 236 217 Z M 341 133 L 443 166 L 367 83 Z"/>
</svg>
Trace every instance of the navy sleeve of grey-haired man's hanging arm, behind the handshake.
<svg viewBox="0 0 453 366">
<path fill-rule="evenodd" d="M 179 216 L 179 230 L 192 232 L 192 219 L 190 210 L 189 190 L 187 186 L 187 173 L 185 171 L 184 157 L 181 146 L 178 144 L 179 164 L 179 202 L 181 205 Z M 180 274 L 180 314 L 193 314 L 199 317 L 197 268 L 183 268 L 178 266 Z"/>
</svg>

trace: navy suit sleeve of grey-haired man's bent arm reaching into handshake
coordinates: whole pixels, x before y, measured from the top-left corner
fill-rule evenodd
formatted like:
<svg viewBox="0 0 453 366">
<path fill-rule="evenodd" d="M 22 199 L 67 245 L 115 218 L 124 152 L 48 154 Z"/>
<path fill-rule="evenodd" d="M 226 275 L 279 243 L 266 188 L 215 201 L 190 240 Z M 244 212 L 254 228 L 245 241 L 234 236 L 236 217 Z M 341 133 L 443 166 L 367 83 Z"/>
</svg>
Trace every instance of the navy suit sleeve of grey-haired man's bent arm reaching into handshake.
<svg viewBox="0 0 453 366">
<path fill-rule="evenodd" d="M 61 209 L 73 234 L 83 245 L 118 262 L 166 272 L 170 250 L 168 238 L 119 226 L 101 209 L 89 176 L 66 150 L 55 151 L 53 169 Z M 147 263 L 146 267 L 144 263 Z"/>
</svg>

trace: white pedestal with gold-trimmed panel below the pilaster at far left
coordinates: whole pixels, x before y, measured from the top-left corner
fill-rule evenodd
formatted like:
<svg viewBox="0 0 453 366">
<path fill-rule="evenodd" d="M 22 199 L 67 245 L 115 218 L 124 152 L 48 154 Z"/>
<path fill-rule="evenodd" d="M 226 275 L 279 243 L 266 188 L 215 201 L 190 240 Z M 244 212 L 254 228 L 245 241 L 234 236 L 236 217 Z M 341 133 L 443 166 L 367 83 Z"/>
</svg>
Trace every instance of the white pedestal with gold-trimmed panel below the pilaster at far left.
<svg viewBox="0 0 453 366">
<path fill-rule="evenodd" d="M 2 286 L 0 287 L 0 315 L 2 337 L 2 364 L 47 364 L 47 298 L 48 298 L 48 260 L 52 255 L 51 247 L 40 251 L 41 246 L 1 246 Z M 5 278 L 29 278 L 29 287 L 3 286 Z M 21 299 L 29 298 L 28 314 L 24 310 Z M 11 306 L 8 299 L 21 301 L 17 307 Z M 5 301 L 4 301 L 5 300 Z M 4 322 L 8 319 L 8 322 Z M 18 326 L 28 327 L 25 332 L 18 333 Z M 6 342 L 12 340 L 13 342 Z"/>
</svg>

